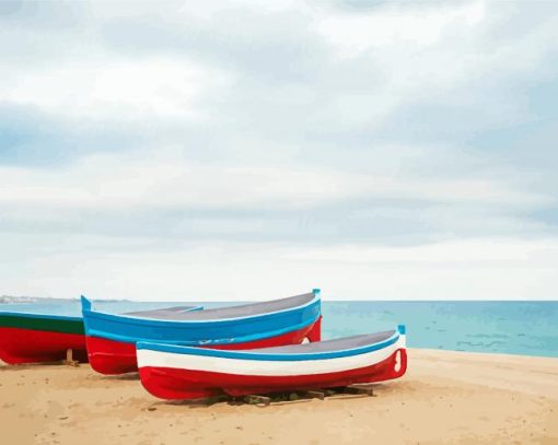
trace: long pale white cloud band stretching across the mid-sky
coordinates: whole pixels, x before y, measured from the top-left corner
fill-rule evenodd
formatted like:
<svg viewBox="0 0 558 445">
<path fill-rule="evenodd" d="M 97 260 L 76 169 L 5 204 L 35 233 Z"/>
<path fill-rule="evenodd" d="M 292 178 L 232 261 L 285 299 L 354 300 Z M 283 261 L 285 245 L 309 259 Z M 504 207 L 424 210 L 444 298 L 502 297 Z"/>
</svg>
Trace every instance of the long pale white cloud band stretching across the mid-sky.
<svg viewBox="0 0 558 445">
<path fill-rule="evenodd" d="M 102 210 L 133 207 L 303 209 L 347 199 L 499 203 L 531 208 L 553 198 L 475 177 L 458 179 L 344 172 L 329 167 L 243 166 L 168 157 L 95 155 L 57 169 L 0 167 L 1 204 Z"/>
</svg>

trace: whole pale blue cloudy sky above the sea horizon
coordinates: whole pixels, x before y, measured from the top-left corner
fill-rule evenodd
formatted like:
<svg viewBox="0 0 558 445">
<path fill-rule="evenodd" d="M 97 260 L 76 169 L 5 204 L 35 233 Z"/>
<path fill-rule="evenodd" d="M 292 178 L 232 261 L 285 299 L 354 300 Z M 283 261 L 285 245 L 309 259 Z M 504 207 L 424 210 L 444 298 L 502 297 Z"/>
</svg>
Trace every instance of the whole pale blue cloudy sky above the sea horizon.
<svg viewBox="0 0 558 445">
<path fill-rule="evenodd" d="M 556 2 L 2 0 L 0 55 L 0 294 L 558 298 Z"/>
</svg>

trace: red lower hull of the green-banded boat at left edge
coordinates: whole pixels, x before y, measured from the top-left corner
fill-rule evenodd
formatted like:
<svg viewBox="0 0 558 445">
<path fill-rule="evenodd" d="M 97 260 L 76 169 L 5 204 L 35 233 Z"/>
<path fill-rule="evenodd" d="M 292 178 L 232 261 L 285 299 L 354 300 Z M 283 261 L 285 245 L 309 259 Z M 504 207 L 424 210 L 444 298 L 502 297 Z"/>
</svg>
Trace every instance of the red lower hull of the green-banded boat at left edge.
<svg viewBox="0 0 558 445">
<path fill-rule="evenodd" d="M 68 349 L 73 360 L 88 361 L 83 335 L 0 327 L 0 360 L 8 364 L 60 361 Z"/>
</svg>

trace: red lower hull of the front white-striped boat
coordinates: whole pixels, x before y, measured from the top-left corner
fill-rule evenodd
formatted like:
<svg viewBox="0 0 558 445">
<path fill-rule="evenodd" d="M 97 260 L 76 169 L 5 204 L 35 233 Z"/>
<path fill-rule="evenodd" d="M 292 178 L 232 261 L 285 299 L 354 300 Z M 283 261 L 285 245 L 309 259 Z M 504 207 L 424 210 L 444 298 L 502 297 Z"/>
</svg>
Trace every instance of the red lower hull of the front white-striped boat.
<svg viewBox="0 0 558 445">
<path fill-rule="evenodd" d="M 399 366 L 395 371 L 397 353 L 400 354 L 400 358 Z M 195 399 L 223 393 L 231 396 L 243 396 L 384 382 L 403 376 L 406 370 L 407 352 L 405 349 L 399 349 L 386 360 L 374 365 L 328 374 L 279 377 L 146 366 L 140 368 L 140 377 L 143 387 L 155 397 Z"/>
</svg>

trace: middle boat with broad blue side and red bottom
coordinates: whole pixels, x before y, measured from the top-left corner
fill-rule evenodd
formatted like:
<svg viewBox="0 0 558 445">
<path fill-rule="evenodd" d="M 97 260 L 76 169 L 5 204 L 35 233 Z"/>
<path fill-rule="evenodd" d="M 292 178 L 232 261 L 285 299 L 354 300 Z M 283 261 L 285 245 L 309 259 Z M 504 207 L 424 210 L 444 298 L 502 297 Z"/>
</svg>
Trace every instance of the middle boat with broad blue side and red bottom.
<svg viewBox="0 0 558 445">
<path fill-rule="evenodd" d="M 321 336 L 317 289 L 288 298 L 177 313 L 165 319 L 101 313 L 82 296 L 82 314 L 91 366 L 109 375 L 138 371 L 138 341 L 234 350 L 317 341 Z"/>
</svg>

